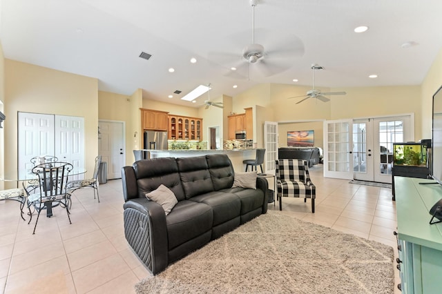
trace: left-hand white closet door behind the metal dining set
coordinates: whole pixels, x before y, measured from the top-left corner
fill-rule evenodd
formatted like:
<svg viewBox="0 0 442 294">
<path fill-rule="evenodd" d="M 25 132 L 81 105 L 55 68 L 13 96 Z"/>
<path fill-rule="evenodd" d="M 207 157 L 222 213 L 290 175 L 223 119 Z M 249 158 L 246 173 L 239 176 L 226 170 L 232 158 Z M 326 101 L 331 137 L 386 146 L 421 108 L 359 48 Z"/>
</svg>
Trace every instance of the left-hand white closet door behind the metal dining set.
<svg viewBox="0 0 442 294">
<path fill-rule="evenodd" d="M 54 115 L 19 112 L 18 127 L 18 176 L 24 179 L 32 157 L 55 154 Z"/>
</svg>

